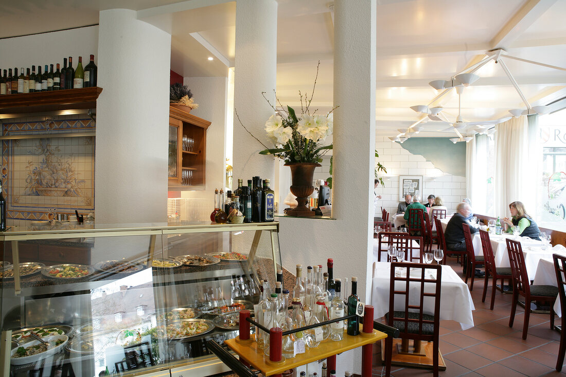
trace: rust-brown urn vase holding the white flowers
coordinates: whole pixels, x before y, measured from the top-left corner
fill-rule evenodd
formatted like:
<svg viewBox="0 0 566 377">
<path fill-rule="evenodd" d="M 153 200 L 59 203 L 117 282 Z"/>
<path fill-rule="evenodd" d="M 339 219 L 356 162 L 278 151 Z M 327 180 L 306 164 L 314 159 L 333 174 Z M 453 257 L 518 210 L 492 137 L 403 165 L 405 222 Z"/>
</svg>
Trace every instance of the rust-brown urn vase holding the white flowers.
<svg viewBox="0 0 566 377">
<path fill-rule="evenodd" d="M 315 173 L 315 168 L 321 166 L 320 164 L 311 162 L 294 162 L 285 164 L 291 168 L 291 193 L 297 196 L 297 208 L 287 209 L 289 216 L 314 216 L 315 212 L 308 208 L 308 196 L 315 190 L 312 186 L 312 177 Z"/>
</svg>

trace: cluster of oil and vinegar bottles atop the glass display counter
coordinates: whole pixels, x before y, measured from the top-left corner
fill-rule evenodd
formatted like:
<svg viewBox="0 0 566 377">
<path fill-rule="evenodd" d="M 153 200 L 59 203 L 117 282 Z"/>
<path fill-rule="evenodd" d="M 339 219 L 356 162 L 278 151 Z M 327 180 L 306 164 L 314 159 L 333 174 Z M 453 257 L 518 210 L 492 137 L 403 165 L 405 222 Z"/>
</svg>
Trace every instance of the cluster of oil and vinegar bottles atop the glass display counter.
<svg viewBox="0 0 566 377">
<path fill-rule="evenodd" d="M 224 224 L 275 220 L 275 191 L 269 187 L 269 179 L 254 177 L 248 179 L 247 186 L 242 186 L 242 182 L 242 179 L 238 179 L 238 188 L 234 192 L 228 191 L 226 199 L 223 190 L 215 192 L 211 221 Z"/>
</svg>

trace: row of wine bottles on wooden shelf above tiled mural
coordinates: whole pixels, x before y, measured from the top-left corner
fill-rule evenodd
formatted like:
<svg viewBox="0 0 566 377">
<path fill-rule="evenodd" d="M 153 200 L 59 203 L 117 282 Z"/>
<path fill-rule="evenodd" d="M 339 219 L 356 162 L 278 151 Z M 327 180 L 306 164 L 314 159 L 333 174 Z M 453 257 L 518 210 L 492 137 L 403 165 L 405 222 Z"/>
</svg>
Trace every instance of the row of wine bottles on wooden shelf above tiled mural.
<svg viewBox="0 0 566 377">
<path fill-rule="evenodd" d="M 53 64 L 45 65 L 45 70 L 41 73 L 41 65 L 32 66 L 31 72 L 27 68 L 0 70 L 0 95 L 12 95 L 18 93 L 34 93 L 45 91 L 58 91 L 59 89 L 76 89 L 96 87 L 97 67 L 95 65 L 95 55 L 91 55 L 91 61 L 83 68 L 83 57 L 79 56 L 79 64 L 72 67 L 72 57 L 63 59 L 63 68 L 57 63 L 57 70 L 53 71 Z"/>
</svg>

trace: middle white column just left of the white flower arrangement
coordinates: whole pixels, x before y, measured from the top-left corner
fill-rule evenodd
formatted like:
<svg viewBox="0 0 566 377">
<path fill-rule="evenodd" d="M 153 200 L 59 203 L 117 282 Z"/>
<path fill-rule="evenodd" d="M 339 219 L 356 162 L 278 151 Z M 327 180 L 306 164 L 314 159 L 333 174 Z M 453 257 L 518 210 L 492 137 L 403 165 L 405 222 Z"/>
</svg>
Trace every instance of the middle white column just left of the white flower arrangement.
<svg viewBox="0 0 566 377">
<path fill-rule="evenodd" d="M 273 114 L 261 92 L 275 104 L 273 90 L 277 75 L 277 2 L 238 0 L 236 3 L 236 45 L 234 59 L 234 182 L 246 183 L 254 175 L 273 182 L 273 158 L 258 155 L 265 149 L 240 125 L 267 147 L 265 121 Z"/>
</svg>

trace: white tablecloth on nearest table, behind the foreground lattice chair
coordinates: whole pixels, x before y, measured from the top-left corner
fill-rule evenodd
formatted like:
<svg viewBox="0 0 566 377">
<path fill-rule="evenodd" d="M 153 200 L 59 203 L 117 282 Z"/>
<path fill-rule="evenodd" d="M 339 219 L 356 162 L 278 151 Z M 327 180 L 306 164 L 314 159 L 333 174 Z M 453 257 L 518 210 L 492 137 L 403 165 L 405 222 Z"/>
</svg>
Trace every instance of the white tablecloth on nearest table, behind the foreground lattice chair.
<svg viewBox="0 0 566 377">
<path fill-rule="evenodd" d="M 371 305 L 374 306 L 374 319 L 383 317 L 389 311 L 389 279 L 391 264 L 387 262 L 374 263 L 374 275 L 371 288 Z M 397 308 L 396 308 L 397 309 Z M 400 303 L 399 310 L 404 310 Z M 462 329 L 474 327 L 471 311 L 475 310 L 471 300 L 470 290 L 456 272 L 449 266 L 442 266 L 442 281 L 440 286 L 440 319 L 459 322 Z M 429 312 L 434 310 L 430 309 Z"/>
</svg>

